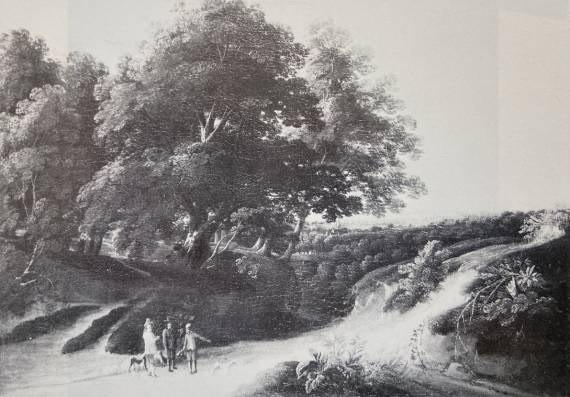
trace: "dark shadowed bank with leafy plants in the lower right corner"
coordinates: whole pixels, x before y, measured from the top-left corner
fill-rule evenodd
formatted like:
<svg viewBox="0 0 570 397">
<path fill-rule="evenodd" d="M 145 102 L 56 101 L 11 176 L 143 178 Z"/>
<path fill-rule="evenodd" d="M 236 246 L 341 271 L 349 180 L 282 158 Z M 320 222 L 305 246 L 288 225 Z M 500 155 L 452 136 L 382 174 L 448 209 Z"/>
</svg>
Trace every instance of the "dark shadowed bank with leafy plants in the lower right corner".
<svg viewBox="0 0 570 397">
<path fill-rule="evenodd" d="M 467 303 L 437 319 L 432 330 L 454 338 L 456 359 L 475 373 L 538 394 L 565 395 L 568 247 L 564 237 L 487 266 Z M 489 373 L 481 363 L 497 357 L 524 366 Z"/>
</svg>

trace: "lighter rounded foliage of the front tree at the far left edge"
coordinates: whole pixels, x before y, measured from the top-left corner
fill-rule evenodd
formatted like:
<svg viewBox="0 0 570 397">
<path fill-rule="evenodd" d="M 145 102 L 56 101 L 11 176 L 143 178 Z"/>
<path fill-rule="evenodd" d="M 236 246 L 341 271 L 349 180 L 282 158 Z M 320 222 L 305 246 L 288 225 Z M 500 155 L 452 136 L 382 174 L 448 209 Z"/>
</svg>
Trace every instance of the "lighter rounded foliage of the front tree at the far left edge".
<svg viewBox="0 0 570 397">
<path fill-rule="evenodd" d="M 45 86 L 21 101 L 0 131 L 1 189 L 34 240 L 65 241 L 75 233 L 74 194 L 90 177 L 83 162 L 89 150 L 77 130 L 65 89 Z"/>
</svg>

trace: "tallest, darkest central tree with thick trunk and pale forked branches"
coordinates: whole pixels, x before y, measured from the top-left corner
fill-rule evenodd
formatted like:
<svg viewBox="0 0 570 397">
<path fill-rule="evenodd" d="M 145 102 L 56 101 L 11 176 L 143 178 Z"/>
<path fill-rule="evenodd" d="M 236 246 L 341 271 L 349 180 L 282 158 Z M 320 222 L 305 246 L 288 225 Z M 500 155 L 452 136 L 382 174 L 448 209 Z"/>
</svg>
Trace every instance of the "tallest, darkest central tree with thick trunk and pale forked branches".
<svg viewBox="0 0 570 397">
<path fill-rule="evenodd" d="M 120 172 L 142 170 L 149 153 L 160 157 L 165 170 L 160 184 L 173 205 L 148 232 L 177 216 L 187 218 L 184 245 L 189 262 L 199 267 L 220 222 L 239 208 L 263 204 L 267 170 L 280 159 L 267 154 L 281 126 L 320 125 L 317 99 L 296 77 L 306 51 L 259 9 L 241 1 L 211 1 L 199 10 L 180 11 L 149 53 L 136 73 L 109 91 L 96 116 L 97 138 Z M 83 190 L 86 205 L 96 196 L 129 202 L 140 175 L 123 179 L 126 191 L 115 189 L 123 195 L 116 200 L 97 193 L 116 183 L 109 172 Z M 156 204 L 145 203 L 143 212 Z M 125 208 L 114 211 L 111 218 L 132 222 Z"/>
</svg>

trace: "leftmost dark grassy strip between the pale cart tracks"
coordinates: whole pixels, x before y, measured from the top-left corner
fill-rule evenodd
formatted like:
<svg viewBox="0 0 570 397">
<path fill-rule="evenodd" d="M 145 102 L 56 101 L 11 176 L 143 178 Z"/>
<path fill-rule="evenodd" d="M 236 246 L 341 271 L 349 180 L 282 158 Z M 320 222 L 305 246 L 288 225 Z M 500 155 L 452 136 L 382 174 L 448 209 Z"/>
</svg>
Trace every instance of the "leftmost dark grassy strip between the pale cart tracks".
<svg viewBox="0 0 570 397">
<path fill-rule="evenodd" d="M 17 343 L 49 334 L 57 329 L 65 328 L 77 321 L 81 315 L 100 309 L 100 306 L 81 305 L 58 310 L 47 316 L 36 317 L 33 320 L 18 324 L 12 332 L 2 339 L 2 343 Z"/>
</svg>

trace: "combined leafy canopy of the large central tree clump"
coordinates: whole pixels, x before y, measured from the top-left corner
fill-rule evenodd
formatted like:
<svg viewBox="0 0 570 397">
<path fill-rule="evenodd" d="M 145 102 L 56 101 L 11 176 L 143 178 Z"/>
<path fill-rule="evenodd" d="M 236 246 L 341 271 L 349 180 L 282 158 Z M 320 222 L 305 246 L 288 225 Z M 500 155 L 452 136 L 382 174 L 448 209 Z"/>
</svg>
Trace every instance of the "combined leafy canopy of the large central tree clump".
<svg viewBox="0 0 570 397">
<path fill-rule="evenodd" d="M 118 222 L 133 248 L 182 229 L 199 267 L 221 225 L 261 228 L 267 254 L 286 230 L 274 221 L 296 218 L 288 258 L 309 213 L 381 214 L 420 191 L 401 159 L 416 151 L 413 121 L 385 86 L 362 83 L 369 64 L 342 33 L 313 33 L 308 49 L 240 0 L 180 10 L 138 65 L 126 59 L 95 90 L 112 160 L 79 195 L 83 230 Z"/>
</svg>

